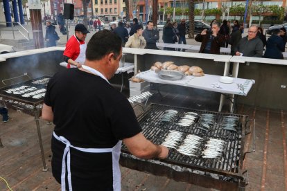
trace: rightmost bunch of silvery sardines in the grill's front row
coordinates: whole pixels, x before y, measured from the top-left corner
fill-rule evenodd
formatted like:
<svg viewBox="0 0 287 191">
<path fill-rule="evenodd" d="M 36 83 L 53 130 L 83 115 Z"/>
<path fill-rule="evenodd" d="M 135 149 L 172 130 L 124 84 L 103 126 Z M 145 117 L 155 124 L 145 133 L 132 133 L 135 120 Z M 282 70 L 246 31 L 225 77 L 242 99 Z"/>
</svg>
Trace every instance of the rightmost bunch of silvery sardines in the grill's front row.
<svg viewBox="0 0 287 191">
<path fill-rule="evenodd" d="M 223 148 L 226 143 L 224 140 L 209 138 L 207 144 L 205 144 L 205 149 L 202 152 L 202 158 L 217 158 L 223 154 Z"/>
</svg>

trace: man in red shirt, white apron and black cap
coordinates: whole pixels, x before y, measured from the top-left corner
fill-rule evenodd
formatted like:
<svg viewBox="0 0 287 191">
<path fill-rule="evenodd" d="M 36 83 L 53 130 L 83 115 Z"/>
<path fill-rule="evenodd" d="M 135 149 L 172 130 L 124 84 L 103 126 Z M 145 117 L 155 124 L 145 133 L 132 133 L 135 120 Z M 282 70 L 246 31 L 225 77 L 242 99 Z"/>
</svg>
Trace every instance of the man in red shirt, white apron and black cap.
<svg viewBox="0 0 287 191">
<path fill-rule="evenodd" d="M 89 30 L 83 24 L 75 26 L 75 35 L 71 36 L 64 50 L 63 60 L 67 62 L 67 69 L 80 68 L 85 63 L 87 44 L 85 39 Z"/>
</svg>

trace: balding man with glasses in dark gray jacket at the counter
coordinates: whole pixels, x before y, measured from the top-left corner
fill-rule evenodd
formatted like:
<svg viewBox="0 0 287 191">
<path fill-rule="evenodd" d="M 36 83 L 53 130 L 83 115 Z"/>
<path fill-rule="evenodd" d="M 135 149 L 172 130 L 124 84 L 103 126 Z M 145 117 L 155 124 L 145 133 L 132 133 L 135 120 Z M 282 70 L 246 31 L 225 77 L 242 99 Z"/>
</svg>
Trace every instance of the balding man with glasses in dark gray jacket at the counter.
<svg viewBox="0 0 287 191">
<path fill-rule="evenodd" d="M 263 42 L 257 36 L 258 27 L 250 26 L 248 35 L 243 37 L 238 45 L 234 48 L 235 55 L 248 57 L 262 57 Z"/>
</svg>

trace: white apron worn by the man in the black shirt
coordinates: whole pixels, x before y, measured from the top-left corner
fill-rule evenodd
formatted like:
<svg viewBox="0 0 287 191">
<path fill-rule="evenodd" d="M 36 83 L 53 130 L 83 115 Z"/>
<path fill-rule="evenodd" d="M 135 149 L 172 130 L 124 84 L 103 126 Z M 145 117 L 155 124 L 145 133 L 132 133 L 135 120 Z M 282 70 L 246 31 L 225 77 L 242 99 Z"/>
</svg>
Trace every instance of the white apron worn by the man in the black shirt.
<svg viewBox="0 0 287 191">
<path fill-rule="evenodd" d="M 82 65 L 82 68 L 94 73 L 95 75 L 100 76 L 104 80 L 107 81 L 107 83 L 110 84 L 110 82 L 105 78 L 105 76 L 100 73 L 99 71 L 96 71 L 95 69 L 92 69 L 89 66 Z M 73 147 L 74 149 L 78 149 L 79 151 L 82 152 L 91 152 L 91 153 L 103 153 L 103 152 L 112 152 L 112 176 L 113 176 L 113 188 L 114 191 L 120 191 L 121 190 L 121 170 L 119 167 L 119 157 L 121 154 L 121 140 L 119 140 L 116 145 L 112 148 L 80 148 L 80 147 L 75 147 L 71 145 L 69 140 L 64 138 L 63 136 L 57 136 L 55 132 L 53 132 L 53 136 L 57 139 L 60 140 L 62 143 L 66 145 L 64 149 L 64 154 L 62 158 L 62 174 L 61 174 L 61 188 L 62 191 L 65 191 L 66 189 L 66 181 L 65 181 L 65 176 L 66 176 L 66 157 L 67 157 L 67 170 L 68 170 L 68 183 L 69 183 L 69 190 L 72 191 L 72 185 L 71 185 L 71 156 L 70 156 L 70 147 Z"/>
</svg>

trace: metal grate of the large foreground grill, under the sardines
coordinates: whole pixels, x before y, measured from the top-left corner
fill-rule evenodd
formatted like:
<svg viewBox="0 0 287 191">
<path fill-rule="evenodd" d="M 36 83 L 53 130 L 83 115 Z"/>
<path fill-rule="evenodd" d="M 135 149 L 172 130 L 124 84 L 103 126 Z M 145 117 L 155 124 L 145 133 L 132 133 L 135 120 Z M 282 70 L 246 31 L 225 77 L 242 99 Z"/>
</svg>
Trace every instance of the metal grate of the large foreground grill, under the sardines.
<svg viewBox="0 0 287 191">
<path fill-rule="evenodd" d="M 167 109 L 177 110 L 177 116 L 171 120 L 171 122 L 162 122 L 159 119 L 164 114 Z M 186 112 L 195 112 L 199 114 L 199 118 L 195 120 L 193 125 L 189 127 L 182 127 L 177 125 L 177 122 L 184 116 Z M 215 115 L 214 124 L 208 131 L 198 129 L 200 126 L 201 115 L 204 113 L 211 113 Z M 236 116 L 238 117 L 238 122 L 236 124 L 236 131 L 228 131 L 223 128 L 223 118 L 225 116 Z M 181 107 L 171 107 L 161 104 L 151 104 L 150 107 L 139 116 L 139 125 L 143 129 L 143 134 L 155 144 L 161 144 L 166 138 L 169 130 L 180 131 L 184 134 L 184 137 L 188 134 L 194 134 L 204 138 L 204 141 L 199 146 L 200 152 L 198 156 L 186 156 L 180 154 L 176 149 L 170 149 L 168 158 L 164 161 L 166 163 L 172 163 L 175 165 L 182 165 L 184 167 L 191 167 L 195 170 L 202 170 L 204 172 L 213 172 L 221 175 L 236 174 L 239 172 L 239 168 L 242 162 L 242 152 L 244 147 L 244 132 L 247 116 L 236 115 L 229 113 L 217 113 L 212 111 L 200 111 L 194 109 L 187 109 Z M 218 158 L 202 158 L 202 150 L 205 147 L 205 143 L 209 138 L 216 138 L 224 140 L 226 145 L 223 150 L 223 155 L 218 156 Z M 183 139 L 182 139 L 183 140 Z M 125 146 L 122 148 L 123 152 L 128 152 Z"/>
</svg>

